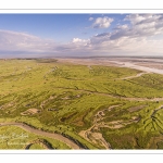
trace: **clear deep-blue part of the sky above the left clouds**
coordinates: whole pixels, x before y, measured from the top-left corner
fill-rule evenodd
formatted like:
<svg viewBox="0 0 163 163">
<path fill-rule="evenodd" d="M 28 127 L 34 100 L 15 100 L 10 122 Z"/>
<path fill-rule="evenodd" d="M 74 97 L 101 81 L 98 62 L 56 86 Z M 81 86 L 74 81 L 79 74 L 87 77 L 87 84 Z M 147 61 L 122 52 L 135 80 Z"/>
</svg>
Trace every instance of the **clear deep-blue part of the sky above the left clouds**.
<svg viewBox="0 0 163 163">
<path fill-rule="evenodd" d="M 70 41 L 73 37 L 86 39 L 97 33 L 111 30 L 110 28 L 91 28 L 89 17 L 103 17 L 108 14 L 1 14 L 0 29 L 27 33 L 41 38 L 51 38 L 58 41 Z M 111 14 L 114 20 L 125 15 Z"/>
</svg>

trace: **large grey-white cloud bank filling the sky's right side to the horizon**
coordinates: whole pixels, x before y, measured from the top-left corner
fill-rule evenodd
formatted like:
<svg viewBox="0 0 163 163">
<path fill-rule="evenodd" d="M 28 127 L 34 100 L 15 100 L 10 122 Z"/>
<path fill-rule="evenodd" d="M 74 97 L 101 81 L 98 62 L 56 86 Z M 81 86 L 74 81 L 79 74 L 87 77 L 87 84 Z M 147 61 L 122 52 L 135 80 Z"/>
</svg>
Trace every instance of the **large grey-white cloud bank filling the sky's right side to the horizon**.
<svg viewBox="0 0 163 163">
<path fill-rule="evenodd" d="M 118 24 L 111 33 L 92 36 L 90 38 L 91 50 L 99 53 L 162 54 L 163 40 L 155 38 L 163 34 L 163 15 L 131 14 L 127 15 L 125 21 L 129 23 Z"/>
</svg>

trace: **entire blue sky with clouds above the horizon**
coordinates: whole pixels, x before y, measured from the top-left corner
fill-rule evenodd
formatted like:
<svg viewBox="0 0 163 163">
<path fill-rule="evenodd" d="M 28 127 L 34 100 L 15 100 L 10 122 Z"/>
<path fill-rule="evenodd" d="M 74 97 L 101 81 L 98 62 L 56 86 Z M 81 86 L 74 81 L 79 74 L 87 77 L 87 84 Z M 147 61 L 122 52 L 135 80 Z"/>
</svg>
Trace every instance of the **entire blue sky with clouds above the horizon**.
<svg viewBox="0 0 163 163">
<path fill-rule="evenodd" d="M 163 55 L 163 14 L 0 14 L 0 58 Z"/>
</svg>

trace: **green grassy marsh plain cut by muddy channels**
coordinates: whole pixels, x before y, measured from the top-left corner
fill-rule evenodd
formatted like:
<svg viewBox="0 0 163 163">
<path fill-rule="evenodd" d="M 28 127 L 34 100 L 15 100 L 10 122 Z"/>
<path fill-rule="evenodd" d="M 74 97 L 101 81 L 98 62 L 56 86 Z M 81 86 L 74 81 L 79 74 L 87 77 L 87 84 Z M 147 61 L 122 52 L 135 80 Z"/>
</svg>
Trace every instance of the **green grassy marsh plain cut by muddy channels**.
<svg viewBox="0 0 163 163">
<path fill-rule="evenodd" d="M 0 123 L 61 134 L 85 149 L 163 149 L 163 75 L 57 60 L 0 60 Z M 158 98 L 158 100 L 152 100 Z M 159 99 L 160 98 L 160 99 Z M 29 149 L 71 149 L 16 126 L 0 126 L 0 149 L 24 149 L 2 136 L 25 133 Z M 108 148 L 106 148 L 108 147 Z"/>
</svg>

